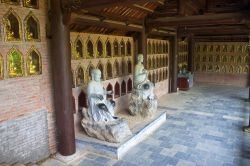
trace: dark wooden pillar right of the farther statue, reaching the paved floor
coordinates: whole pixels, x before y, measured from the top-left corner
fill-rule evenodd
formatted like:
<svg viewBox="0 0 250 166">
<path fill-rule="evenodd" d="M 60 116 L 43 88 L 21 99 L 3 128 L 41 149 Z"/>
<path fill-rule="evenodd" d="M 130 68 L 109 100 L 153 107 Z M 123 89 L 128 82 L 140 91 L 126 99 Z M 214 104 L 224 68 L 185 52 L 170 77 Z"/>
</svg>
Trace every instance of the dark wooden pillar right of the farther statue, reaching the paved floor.
<svg viewBox="0 0 250 166">
<path fill-rule="evenodd" d="M 177 35 L 170 38 L 170 93 L 177 92 Z"/>
</svg>

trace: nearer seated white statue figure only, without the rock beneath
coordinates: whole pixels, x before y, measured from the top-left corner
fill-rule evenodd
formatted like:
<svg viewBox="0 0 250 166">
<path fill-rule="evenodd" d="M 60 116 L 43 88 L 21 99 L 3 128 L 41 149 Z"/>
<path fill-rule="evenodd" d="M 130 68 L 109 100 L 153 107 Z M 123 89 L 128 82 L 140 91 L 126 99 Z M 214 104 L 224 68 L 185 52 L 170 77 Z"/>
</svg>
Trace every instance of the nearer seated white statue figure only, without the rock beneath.
<svg viewBox="0 0 250 166">
<path fill-rule="evenodd" d="M 88 84 L 88 116 L 94 121 L 115 120 L 113 100 L 107 100 L 106 95 L 112 91 L 106 91 L 101 84 L 101 71 L 94 69 L 91 71 L 92 80 Z"/>
</svg>

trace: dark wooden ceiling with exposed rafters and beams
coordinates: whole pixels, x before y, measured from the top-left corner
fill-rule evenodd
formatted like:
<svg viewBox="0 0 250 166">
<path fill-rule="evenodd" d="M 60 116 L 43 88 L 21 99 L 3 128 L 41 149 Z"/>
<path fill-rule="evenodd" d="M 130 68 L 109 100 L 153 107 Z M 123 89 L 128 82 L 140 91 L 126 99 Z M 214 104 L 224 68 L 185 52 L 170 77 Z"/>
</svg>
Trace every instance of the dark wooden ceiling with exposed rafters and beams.
<svg viewBox="0 0 250 166">
<path fill-rule="evenodd" d="M 250 0 L 73 0 L 77 32 L 249 35 Z"/>
</svg>

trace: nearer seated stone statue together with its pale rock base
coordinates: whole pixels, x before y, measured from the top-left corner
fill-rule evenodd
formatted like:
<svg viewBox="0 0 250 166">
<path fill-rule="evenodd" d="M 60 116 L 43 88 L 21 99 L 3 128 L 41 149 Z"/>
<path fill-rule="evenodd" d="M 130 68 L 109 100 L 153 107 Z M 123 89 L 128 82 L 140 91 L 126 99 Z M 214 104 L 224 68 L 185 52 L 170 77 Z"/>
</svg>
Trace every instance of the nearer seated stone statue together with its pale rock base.
<svg viewBox="0 0 250 166">
<path fill-rule="evenodd" d="M 87 135 L 108 142 L 121 142 L 132 133 L 124 119 L 114 116 L 115 102 L 107 100 L 106 91 L 101 84 L 101 71 L 91 71 L 92 80 L 87 87 L 88 110 L 83 111 L 81 124 Z"/>
</svg>

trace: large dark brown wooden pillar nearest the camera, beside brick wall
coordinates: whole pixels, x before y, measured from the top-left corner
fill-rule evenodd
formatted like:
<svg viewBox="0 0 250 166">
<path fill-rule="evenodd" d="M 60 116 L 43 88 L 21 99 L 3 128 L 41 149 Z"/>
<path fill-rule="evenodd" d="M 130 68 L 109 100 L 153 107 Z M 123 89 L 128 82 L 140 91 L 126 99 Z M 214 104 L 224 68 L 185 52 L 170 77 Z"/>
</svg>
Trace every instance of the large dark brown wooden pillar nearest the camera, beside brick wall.
<svg viewBox="0 0 250 166">
<path fill-rule="evenodd" d="M 51 1 L 51 56 L 58 151 L 68 156 L 75 153 L 75 131 L 70 78 L 70 32 L 68 15 L 63 14 L 61 3 L 61 0 Z"/>
</svg>

